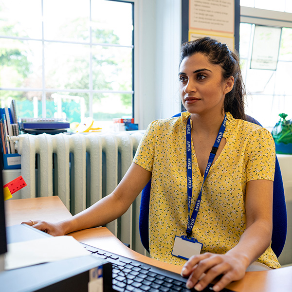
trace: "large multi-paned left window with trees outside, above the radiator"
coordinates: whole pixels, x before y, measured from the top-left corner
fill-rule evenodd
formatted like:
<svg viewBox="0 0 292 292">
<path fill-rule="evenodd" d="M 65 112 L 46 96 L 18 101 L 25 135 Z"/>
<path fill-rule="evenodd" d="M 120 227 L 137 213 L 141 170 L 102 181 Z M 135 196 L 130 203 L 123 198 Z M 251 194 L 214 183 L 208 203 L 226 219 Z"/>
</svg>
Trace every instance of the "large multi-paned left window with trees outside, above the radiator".
<svg viewBox="0 0 292 292">
<path fill-rule="evenodd" d="M 0 1 L 1 107 L 21 117 L 133 117 L 133 2 Z"/>
</svg>

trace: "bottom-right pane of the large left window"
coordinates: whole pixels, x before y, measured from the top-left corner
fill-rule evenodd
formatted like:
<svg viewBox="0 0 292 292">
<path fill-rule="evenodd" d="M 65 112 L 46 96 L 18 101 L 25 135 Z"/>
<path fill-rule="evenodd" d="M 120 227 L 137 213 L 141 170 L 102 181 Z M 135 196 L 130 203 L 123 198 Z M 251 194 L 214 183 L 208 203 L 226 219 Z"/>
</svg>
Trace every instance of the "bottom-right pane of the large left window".
<svg viewBox="0 0 292 292">
<path fill-rule="evenodd" d="M 93 119 L 97 121 L 132 117 L 132 94 L 94 93 L 92 108 Z"/>
</svg>

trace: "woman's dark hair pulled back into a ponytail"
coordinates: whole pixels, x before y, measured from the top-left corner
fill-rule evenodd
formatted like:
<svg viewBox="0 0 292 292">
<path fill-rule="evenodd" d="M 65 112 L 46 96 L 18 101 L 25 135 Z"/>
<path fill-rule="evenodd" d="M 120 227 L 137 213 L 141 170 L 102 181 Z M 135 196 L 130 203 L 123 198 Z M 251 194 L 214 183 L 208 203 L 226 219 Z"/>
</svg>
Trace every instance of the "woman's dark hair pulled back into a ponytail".
<svg viewBox="0 0 292 292">
<path fill-rule="evenodd" d="M 234 77 L 233 89 L 226 93 L 222 110 L 225 112 L 229 111 L 236 119 L 246 120 L 244 113 L 246 92 L 238 55 L 230 51 L 226 44 L 220 43 L 218 40 L 210 37 L 203 37 L 183 44 L 180 65 L 185 57 L 197 53 L 205 55 L 210 63 L 220 65 L 224 80 L 231 76 Z"/>
</svg>

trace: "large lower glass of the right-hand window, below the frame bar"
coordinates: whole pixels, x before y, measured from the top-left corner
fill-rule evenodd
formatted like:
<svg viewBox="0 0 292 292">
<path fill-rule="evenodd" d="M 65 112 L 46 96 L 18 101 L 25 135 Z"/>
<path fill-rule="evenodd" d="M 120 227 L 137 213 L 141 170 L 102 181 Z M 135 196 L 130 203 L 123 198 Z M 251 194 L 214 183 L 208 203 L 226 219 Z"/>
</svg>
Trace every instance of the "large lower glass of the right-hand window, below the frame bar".
<svg viewBox="0 0 292 292">
<path fill-rule="evenodd" d="M 240 23 L 240 62 L 247 91 L 246 113 L 264 127 L 274 127 L 279 113 L 292 118 L 292 29 L 283 28 L 277 69 L 250 69 L 255 25 Z"/>
</svg>

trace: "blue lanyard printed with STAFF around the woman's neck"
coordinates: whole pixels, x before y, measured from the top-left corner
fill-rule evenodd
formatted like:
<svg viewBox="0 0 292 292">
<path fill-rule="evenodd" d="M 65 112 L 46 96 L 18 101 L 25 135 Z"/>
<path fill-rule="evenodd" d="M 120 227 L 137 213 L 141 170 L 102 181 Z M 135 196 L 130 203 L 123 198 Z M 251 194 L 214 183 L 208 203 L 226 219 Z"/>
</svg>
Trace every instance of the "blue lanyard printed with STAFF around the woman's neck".
<svg viewBox="0 0 292 292">
<path fill-rule="evenodd" d="M 207 164 L 206 170 L 204 172 L 204 180 L 203 180 L 203 183 L 201 186 L 201 191 L 200 191 L 200 194 L 197 198 L 196 205 L 195 205 L 194 211 L 192 213 L 192 216 L 190 218 L 190 209 L 191 209 L 191 201 L 192 201 L 192 193 L 193 193 L 191 117 L 189 117 L 189 119 L 187 120 L 187 124 L 186 124 L 186 175 L 187 175 L 187 208 L 188 208 L 188 220 L 187 220 L 187 229 L 186 229 L 187 237 L 192 236 L 192 229 L 194 227 L 195 221 L 196 221 L 198 213 L 199 213 L 203 184 L 207 178 L 210 166 L 215 158 L 220 141 L 221 141 L 223 133 L 225 131 L 226 121 L 227 121 L 227 118 L 226 118 L 226 114 L 225 114 L 224 120 L 223 120 L 221 127 L 219 129 L 219 133 L 218 133 L 217 138 L 215 140 L 214 146 L 212 147 L 212 151 L 210 152 L 208 164 Z"/>
</svg>

